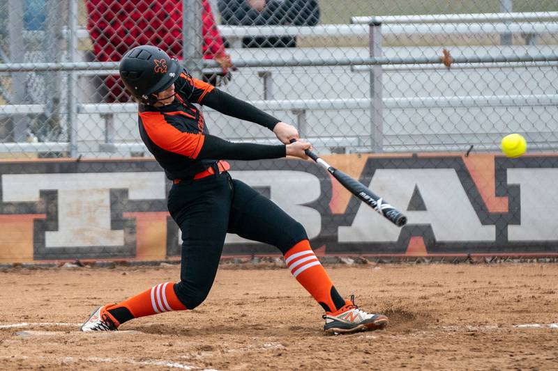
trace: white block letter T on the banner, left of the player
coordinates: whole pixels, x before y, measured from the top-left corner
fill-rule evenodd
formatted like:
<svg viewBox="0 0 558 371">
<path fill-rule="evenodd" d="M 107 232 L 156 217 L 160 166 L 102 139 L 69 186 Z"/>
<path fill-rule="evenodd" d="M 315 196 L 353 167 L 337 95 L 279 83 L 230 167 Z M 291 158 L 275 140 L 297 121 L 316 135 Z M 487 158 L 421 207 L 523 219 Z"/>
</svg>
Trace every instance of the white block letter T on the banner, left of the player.
<svg viewBox="0 0 558 371">
<path fill-rule="evenodd" d="M 165 199 L 165 174 L 70 173 L 2 175 L 3 202 L 36 202 L 39 191 L 58 191 L 58 230 L 46 247 L 122 246 L 123 230 L 110 229 L 110 189 L 128 189 L 130 200 Z"/>
</svg>

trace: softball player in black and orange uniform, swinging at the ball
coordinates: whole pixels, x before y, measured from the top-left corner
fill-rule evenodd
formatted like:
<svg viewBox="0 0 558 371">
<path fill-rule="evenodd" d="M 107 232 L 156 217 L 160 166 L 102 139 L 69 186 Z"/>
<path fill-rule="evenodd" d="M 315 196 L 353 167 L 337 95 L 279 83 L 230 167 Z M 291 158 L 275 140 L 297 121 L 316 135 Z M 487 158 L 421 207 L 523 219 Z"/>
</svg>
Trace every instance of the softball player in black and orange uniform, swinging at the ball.
<svg viewBox="0 0 558 371">
<path fill-rule="evenodd" d="M 173 185 L 168 195 L 172 219 L 182 231 L 181 280 L 159 283 L 116 304 L 93 310 L 82 331 L 112 331 L 130 319 L 169 310 L 192 310 L 209 294 L 227 232 L 277 246 L 292 275 L 326 314 L 327 333 L 383 329 L 384 315 L 365 313 L 335 290 L 301 223 L 268 198 L 233 179 L 229 164 L 216 159 L 306 159 L 310 143 L 295 141 L 292 125 L 194 79 L 175 58 L 148 45 L 130 49 L 120 77 L 139 105 L 142 140 Z M 284 144 L 231 143 L 209 134 L 195 104 L 272 130 Z"/>
</svg>

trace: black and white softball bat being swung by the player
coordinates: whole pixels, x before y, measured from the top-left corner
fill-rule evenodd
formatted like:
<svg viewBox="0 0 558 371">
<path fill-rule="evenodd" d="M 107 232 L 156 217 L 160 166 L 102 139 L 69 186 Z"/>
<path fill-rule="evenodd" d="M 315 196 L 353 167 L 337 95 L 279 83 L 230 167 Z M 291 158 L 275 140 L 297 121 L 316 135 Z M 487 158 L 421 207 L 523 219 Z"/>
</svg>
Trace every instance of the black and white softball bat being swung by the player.
<svg viewBox="0 0 558 371">
<path fill-rule="evenodd" d="M 294 141 L 296 141 L 296 139 L 291 139 L 291 143 Z M 326 161 L 319 158 L 314 152 L 310 150 L 305 150 L 304 152 L 306 152 L 308 157 L 316 161 L 317 164 L 324 166 L 324 168 L 326 168 L 326 170 L 329 171 L 329 173 L 333 175 L 333 177 L 335 177 L 335 179 L 337 179 L 343 187 L 354 194 L 354 196 L 360 198 L 363 203 L 379 212 L 379 214 L 391 221 L 395 224 L 395 226 L 405 226 L 407 223 L 407 216 L 403 215 L 402 212 L 395 209 L 395 207 L 389 205 L 389 203 L 386 203 L 383 198 L 378 197 L 374 194 L 374 192 L 365 187 L 364 184 L 354 180 L 352 177 L 349 177 L 349 175 L 329 165 Z"/>
</svg>

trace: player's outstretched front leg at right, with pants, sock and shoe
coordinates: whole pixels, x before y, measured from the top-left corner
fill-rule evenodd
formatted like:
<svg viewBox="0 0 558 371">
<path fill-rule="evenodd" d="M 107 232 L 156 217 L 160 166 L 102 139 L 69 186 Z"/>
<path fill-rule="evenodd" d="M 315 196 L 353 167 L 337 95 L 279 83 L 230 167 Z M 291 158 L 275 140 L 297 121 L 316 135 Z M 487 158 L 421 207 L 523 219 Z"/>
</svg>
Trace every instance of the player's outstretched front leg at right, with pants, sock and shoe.
<svg viewBox="0 0 558 371">
<path fill-rule="evenodd" d="M 306 230 L 268 198 L 233 180 L 234 196 L 229 232 L 277 246 L 296 281 L 324 308 L 328 333 L 382 329 L 384 315 L 372 315 L 343 299 L 310 247 Z"/>
</svg>

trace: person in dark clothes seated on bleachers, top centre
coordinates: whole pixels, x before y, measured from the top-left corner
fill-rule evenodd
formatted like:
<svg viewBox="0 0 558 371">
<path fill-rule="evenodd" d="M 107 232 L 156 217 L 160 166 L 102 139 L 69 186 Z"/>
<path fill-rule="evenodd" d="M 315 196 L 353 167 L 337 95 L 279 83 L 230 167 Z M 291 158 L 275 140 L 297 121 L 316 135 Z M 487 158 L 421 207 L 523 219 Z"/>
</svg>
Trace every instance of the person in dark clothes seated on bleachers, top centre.
<svg viewBox="0 0 558 371">
<path fill-rule="evenodd" d="M 315 26 L 317 0 L 219 0 L 221 22 L 228 26 Z M 296 47 L 295 36 L 246 37 L 243 47 Z"/>
</svg>

